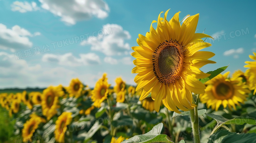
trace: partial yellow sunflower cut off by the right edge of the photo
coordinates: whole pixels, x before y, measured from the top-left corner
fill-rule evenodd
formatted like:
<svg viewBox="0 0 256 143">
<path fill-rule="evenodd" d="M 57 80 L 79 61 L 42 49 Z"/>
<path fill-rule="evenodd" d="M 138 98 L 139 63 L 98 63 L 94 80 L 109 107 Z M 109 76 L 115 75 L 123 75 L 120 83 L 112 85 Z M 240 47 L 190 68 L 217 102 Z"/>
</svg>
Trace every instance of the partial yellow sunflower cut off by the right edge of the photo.
<svg viewBox="0 0 256 143">
<path fill-rule="evenodd" d="M 245 71 L 245 76 L 248 77 L 249 88 L 250 90 L 254 90 L 253 94 L 255 95 L 256 93 L 256 53 L 253 52 L 253 54 L 254 56 L 249 55 L 249 57 L 254 61 L 253 62 L 246 61 L 245 63 L 247 63 L 247 65 L 245 65 L 244 67 L 249 68 Z"/>
</svg>

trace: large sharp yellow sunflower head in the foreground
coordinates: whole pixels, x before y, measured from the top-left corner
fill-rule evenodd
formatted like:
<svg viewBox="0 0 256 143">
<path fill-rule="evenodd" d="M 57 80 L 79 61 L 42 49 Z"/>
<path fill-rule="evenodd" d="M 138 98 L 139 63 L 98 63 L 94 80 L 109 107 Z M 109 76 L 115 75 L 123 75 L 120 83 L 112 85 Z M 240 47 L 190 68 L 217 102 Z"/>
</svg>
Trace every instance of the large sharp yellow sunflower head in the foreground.
<svg viewBox="0 0 256 143">
<path fill-rule="evenodd" d="M 159 112 L 160 103 L 171 111 L 181 113 L 193 109 L 192 94 L 205 93 L 205 85 L 198 79 L 206 78 L 209 74 L 199 68 L 207 63 L 215 54 L 199 51 L 211 44 L 203 42 L 201 38 L 209 37 L 203 33 L 195 33 L 199 14 L 190 16 L 182 25 L 177 12 L 170 21 L 158 17 L 156 30 L 152 24 L 145 36 L 139 34 L 137 43 L 132 47 L 135 51 L 131 55 L 136 58 L 133 63 L 136 67 L 132 73 L 138 73 L 134 81 L 139 83 L 136 91 L 143 89 L 140 100 L 151 92 L 155 100 L 155 110 Z"/>
</svg>

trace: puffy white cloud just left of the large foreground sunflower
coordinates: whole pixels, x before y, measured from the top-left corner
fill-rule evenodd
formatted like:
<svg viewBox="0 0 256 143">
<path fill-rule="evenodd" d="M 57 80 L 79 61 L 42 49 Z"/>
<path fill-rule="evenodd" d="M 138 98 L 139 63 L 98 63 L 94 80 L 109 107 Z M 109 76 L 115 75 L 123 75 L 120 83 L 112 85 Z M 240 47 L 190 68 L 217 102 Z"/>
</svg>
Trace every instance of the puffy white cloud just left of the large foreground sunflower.
<svg viewBox="0 0 256 143">
<path fill-rule="evenodd" d="M 124 40 L 131 38 L 130 33 L 117 24 L 106 24 L 102 30 L 106 29 L 109 29 L 110 34 L 103 34 L 98 38 L 89 37 L 81 45 L 91 45 L 91 50 L 100 51 L 107 56 L 128 54 L 131 47 Z"/>
</svg>

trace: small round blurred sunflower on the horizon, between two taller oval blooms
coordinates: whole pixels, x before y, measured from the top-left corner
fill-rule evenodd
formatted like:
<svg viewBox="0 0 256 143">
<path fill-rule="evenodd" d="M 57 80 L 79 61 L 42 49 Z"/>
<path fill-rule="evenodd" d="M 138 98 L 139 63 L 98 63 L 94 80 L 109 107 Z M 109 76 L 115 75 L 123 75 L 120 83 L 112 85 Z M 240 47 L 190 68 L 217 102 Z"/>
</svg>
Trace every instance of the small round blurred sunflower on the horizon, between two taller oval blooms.
<svg viewBox="0 0 256 143">
<path fill-rule="evenodd" d="M 72 79 L 68 87 L 69 96 L 76 98 L 80 97 L 83 87 L 84 85 L 79 79 Z"/>
</svg>

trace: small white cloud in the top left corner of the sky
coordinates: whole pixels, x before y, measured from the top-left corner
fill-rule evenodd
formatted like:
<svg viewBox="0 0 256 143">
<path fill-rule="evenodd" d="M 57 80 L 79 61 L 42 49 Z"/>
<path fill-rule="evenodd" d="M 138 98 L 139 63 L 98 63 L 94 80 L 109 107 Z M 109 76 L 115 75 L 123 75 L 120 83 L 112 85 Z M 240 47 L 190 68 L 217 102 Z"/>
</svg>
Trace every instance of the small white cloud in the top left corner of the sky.
<svg viewBox="0 0 256 143">
<path fill-rule="evenodd" d="M 35 2 L 20 2 L 20 1 L 15 1 L 11 4 L 11 10 L 12 11 L 19 11 L 21 13 L 25 13 L 28 11 L 36 11 L 39 8 L 36 6 Z"/>
</svg>

